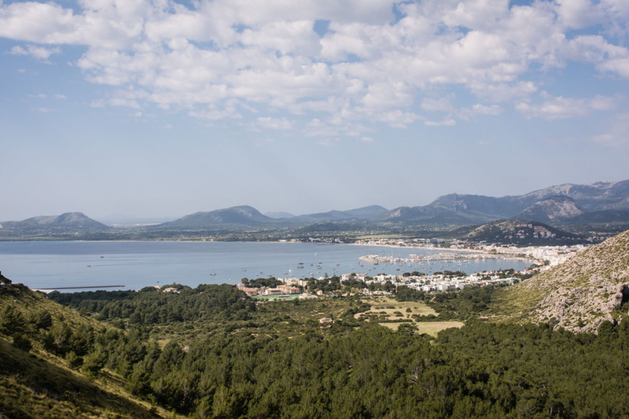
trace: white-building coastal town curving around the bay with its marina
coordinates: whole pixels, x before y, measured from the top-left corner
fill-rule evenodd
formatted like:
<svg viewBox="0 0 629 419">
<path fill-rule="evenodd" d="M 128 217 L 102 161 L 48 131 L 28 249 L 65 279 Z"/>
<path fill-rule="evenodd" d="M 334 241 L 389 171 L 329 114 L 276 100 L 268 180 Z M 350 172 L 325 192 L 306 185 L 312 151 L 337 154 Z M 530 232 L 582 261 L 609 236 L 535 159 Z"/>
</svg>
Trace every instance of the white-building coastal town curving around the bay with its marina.
<svg viewBox="0 0 629 419">
<path fill-rule="evenodd" d="M 356 244 L 386 247 L 411 247 L 417 249 L 438 250 L 442 248 L 440 240 L 368 240 Z M 514 258 L 530 261 L 524 270 L 490 270 L 465 273 L 459 270 L 424 273 L 418 271 L 400 274 L 362 273 L 334 274 L 310 278 L 280 277 L 276 286 L 247 286 L 238 284 L 238 288 L 250 297 L 261 300 L 308 299 L 325 295 L 389 295 L 400 286 L 412 288 L 424 293 L 443 293 L 460 291 L 467 287 L 505 286 L 515 284 L 532 277 L 537 272 L 548 270 L 586 249 L 583 245 L 554 247 L 508 247 L 496 244 L 474 244 L 451 242 L 449 247 L 440 252 L 412 253 L 409 258 L 369 254 L 359 258 L 364 263 L 373 265 L 393 263 L 422 263 L 431 261 L 477 260 L 486 258 Z M 361 265 L 362 266 L 362 265 Z"/>
</svg>

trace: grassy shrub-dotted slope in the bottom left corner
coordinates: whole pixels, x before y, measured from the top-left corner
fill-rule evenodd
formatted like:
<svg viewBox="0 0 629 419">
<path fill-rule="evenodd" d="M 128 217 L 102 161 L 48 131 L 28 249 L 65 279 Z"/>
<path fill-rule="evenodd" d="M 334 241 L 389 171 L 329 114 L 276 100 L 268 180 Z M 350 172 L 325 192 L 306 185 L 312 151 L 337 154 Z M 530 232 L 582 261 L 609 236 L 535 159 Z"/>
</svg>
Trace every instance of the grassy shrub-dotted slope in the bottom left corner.
<svg viewBox="0 0 629 419">
<path fill-rule="evenodd" d="M 0 277 L 5 283 L 0 285 L 1 419 L 168 415 L 129 395 L 120 375 L 94 367 L 104 362 L 99 342 L 120 331 Z"/>
</svg>

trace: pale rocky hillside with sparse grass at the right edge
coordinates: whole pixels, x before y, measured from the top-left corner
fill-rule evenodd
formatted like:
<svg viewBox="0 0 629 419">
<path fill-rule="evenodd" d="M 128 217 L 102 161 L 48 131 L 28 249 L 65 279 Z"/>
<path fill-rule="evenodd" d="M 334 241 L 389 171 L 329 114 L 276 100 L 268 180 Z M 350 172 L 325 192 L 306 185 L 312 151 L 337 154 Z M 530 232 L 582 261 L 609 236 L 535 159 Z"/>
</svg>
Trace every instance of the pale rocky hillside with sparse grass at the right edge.
<svg viewBox="0 0 629 419">
<path fill-rule="evenodd" d="M 585 332 L 626 317 L 628 300 L 629 230 L 498 291 L 493 309 L 505 318 Z"/>
</svg>

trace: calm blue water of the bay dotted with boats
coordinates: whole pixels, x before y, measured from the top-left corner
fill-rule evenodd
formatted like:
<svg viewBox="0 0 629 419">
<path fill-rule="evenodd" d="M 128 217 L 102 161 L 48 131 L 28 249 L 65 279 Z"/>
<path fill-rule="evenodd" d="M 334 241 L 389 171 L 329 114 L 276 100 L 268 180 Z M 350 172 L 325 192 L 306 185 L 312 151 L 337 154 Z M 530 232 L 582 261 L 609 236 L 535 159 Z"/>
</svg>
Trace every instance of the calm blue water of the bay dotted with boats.
<svg viewBox="0 0 629 419">
<path fill-rule="evenodd" d="M 0 271 L 30 288 L 123 285 L 145 286 L 177 282 L 236 284 L 259 277 L 319 277 L 324 274 L 403 272 L 432 273 L 514 268 L 530 263 L 520 260 L 470 260 L 451 262 L 360 266 L 360 256 L 380 254 L 408 258 L 411 253 L 430 253 L 412 248 L 354 246 L 347 244 L 260 242 L 0 242 Z M 303 266 L 303 267 L 301 267 Z M 319 267 L 320 266 L 320 267 Z M 103 288 L 104 289 L 104 288 Z M 64 290 L 78 291 L 78 290 Z"/>
</svg>

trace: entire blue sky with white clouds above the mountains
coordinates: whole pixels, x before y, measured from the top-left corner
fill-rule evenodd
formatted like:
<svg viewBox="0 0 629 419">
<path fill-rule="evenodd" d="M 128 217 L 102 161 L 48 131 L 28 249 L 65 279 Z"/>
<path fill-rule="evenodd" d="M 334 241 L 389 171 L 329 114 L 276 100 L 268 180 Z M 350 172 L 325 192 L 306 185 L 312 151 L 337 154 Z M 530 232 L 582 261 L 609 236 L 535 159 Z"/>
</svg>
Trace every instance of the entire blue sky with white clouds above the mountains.
<svg viewBox="0 0 629 419">
<path fill-rule="evenodd" d="M 0 0 L 0 221 L 629 179 L 626 0 Z"/>
</svg>

